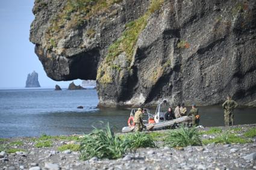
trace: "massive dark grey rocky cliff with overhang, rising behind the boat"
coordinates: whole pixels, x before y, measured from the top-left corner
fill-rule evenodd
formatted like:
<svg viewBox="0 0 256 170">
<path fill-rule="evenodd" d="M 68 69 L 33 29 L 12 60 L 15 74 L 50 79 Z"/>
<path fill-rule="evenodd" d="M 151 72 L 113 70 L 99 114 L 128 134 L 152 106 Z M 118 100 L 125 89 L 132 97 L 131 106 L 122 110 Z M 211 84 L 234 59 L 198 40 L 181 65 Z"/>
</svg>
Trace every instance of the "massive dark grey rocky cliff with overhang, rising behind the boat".
<svg viewBox="0 0 256 170">
<path fill-rule="evenodd" d="M 256 99 L 254 0 L 36 0 L 33 13 L 48 76 L 96 79 L 99 106 Z"/>
</svg>

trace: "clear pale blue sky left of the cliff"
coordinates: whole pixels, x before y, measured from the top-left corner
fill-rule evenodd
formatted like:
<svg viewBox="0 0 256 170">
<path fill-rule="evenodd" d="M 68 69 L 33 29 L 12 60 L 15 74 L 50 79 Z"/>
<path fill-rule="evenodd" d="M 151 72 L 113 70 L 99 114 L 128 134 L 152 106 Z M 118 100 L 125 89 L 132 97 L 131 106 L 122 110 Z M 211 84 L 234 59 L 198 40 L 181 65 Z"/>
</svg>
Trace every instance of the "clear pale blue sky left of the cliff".
<svg viewBox="0 0 256 170">
<path fill-rule="evenodd" d="M 39 73 L 43 88 L 62 88 L 70 82 L 56 82 L 46 76 L 30 42 L 30 24 L 34 19 L 34 0 L 0 1 L 0 88 L 23 88 L 28 73 Z M 71 81 L 72 82 L 72 81 Z M 81 80 L 75 80 L 80 84 Z"/>
</svg>

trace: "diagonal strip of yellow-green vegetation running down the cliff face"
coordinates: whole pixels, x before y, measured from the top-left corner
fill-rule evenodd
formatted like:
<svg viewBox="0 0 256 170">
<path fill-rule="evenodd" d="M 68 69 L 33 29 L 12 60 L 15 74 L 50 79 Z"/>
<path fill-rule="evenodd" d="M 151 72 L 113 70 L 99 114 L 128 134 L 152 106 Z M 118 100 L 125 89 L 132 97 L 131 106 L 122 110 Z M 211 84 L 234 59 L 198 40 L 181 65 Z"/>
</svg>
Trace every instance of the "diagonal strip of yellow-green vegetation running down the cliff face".
<svg viewBox="0 0 256 170">
<path fill-rule="evenodd" d="M 148 24 L 149 16 L 155 11 L 160 10 L 163 2 L 164 0 L 152 0 L 148 11 L 146 11 L 143 16 L 125 25 L 125 31 L 122 32 L 120 38 L 118 38 L 116 41 L 114 41 L 113 44 L 110 45 L 110 47 L 108 47 L 108 54 L 102 64 L 99 66 L 97 79 L 100 83 L 110 83 L 112 81 L 112 78 L 109 72 L 115 70 L 116 68 L 117 71 L 121 70 L 119 65 L 113 67 L 113 61 L 121 53 L 125 53 L 126 62 L 128 63 L 128 65 L 131 64 L 131 61 L 133 60 L 134 49 L 140 33 L 143 31 L 143 29 L 145 29 L 146 25 Z"/>
</svg>

